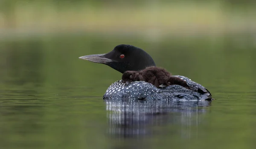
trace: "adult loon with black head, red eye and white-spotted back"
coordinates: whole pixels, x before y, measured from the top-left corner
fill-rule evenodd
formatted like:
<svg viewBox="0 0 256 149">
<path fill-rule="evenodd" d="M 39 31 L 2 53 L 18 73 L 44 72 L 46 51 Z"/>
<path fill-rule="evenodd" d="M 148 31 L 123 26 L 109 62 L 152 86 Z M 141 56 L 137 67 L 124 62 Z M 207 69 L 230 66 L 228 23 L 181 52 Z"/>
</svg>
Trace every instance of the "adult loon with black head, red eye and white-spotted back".
<svg viewBox="0 0 256 149">
<path fill-rule="evenodd" d="M 126 71 L 139 71 L 150 66 L 156 66 L 153 58 L 143 49 L 135 46 L 121 44 L 107 54 L 93 54 L 79 57 L 94 63 L 102 63 L 124 73 Z M 212 100 L 210 92 L 198 83 L 187 77 L 175 75 L 186 83 L 192 90 L 179 85 L 171 85 L 158 89 L 151 83 L 134 81 L 130 84 L 122 80 L 116 81 L 108 87 L 104 99 L 144 99 L 144 100 Z M 198 91 L 198 92 L 195 92 Z"/>
</svg>

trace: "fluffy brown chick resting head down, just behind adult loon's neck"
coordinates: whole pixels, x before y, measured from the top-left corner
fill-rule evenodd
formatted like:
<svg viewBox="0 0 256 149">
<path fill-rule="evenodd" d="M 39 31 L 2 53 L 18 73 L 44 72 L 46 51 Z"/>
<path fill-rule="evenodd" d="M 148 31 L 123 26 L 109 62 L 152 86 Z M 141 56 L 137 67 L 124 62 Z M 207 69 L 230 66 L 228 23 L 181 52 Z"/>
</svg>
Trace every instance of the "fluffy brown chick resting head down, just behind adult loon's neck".
<svg viewBox="0 0 256 149">
<path fill-rule="evenodd" d="M 126 71 L 122 75 L 122 80 L 128 84 L 133 81 L 145 81 L 159 87 L 160 84 L 165 83 L 166 79 L 171 77 L 172 74 L 166 69 L 160 67 L 148 67 L 139 72 L 137 71 Z M 181 80 L 181 79 L 180 79 Z"/>
</svg>

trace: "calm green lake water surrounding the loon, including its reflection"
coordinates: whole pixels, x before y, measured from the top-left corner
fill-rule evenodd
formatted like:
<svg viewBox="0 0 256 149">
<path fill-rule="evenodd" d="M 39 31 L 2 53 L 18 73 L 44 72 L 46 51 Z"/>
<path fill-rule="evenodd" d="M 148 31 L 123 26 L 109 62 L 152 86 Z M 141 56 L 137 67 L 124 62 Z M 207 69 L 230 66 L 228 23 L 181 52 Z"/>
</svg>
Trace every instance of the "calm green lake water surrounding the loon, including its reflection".
<svg viewBox="0 0 256 149">
<path fill-rule="evenodd" d="M 254 149 L 255 41 L 249 35 L 2 40 L 0 148 Z M 107 53 L 118 44 L 141 47 L 157 66 L 201 83 L 216 100 L 104 102 L 106 89 L 121 74 L 78 57 Z M 167 108 L 157 109 L 161 104 Z"/>
</svg>

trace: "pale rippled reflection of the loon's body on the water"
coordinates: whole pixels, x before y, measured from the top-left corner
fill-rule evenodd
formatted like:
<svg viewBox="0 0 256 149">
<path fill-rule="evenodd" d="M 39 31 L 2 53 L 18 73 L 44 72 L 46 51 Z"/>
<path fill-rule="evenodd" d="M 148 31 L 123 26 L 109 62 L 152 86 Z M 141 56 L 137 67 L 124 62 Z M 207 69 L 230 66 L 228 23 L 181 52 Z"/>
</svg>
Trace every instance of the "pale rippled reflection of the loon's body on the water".
<svg viewBox="0 0 256 149">
<path fill-rule="evenodd" d="M 209 111 L 211 101 L 206 100 L 105 100 L 109 119 L 109 134 L 117 138 L 150 135 L 148 126 L 176 124 L 177 133 L 189 138 L 191 126 L 201 123 L 202 115 Z"/>
</svg>

